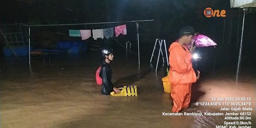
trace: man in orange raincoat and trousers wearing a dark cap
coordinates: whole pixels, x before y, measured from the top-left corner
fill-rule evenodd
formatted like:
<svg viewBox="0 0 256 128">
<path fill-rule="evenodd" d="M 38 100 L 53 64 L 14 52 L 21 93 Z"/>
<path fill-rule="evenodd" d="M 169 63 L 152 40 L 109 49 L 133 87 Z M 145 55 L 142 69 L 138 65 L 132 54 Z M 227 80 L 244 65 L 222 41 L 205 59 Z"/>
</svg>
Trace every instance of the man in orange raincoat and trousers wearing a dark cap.
<svg viewBox="0 0 256 128">
<path fill-rule="evenodd" d="M 179 112 L 189 106 L 191 85 L 197 80 L 192 67 L 192 53 L 195 46 L 192 44 L 190 49 L 186 48 L 186 45 L 190 45 L 195 31 L 193 27 L 185 26 L 181 28 L 179 34 L 180 38 L 169 48 L 169 81 L 172 83 L 173 112 Z"/>
</svg>

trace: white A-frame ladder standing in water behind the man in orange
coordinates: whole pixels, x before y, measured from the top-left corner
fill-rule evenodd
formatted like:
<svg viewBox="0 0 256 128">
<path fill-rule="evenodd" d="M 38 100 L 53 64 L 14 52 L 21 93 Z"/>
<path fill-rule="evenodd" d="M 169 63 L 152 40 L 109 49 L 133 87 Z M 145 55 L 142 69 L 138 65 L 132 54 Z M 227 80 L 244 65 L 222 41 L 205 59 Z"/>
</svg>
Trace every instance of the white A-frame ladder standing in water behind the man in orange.
<svg viewBox="0 0 256 128">
<path fill-rule="evenodd" d="M 156 45 L 158 46 L 159 45 L 159 49 L 156 48 Z M 162 46 L 165 46 L 165 56 L 163 54 L 163 48 Z M 165 40 L 164 39 L 156 39 L 155 40 L 155 46 L 154 46 L 154 49 L 153 49 L 153 52 L 152 52 L 152 55 L 151 55 L 151 59 L 150 59 L 150 65 L 153 66 L 152 64 L 152 59 L 153 59 L 153 56 L 155 57 L 154 53 L 155 53 L 155 50 L 158 50 L 158 56 L 157 56 L 157 61 L 156 61 L 156 66 L 155 66 L 155 73 L 157 72 L 157 66 L 158 66 L 158 63 L 159 63 L 159 57 L 160 57 L 160 53 L 161 53 L 161 56 L 163 58 L 163 66 L 165 65 L 165 59 L 166 59 L 166 64 L 167 66 L 169 65 L 169 61 L 168 61 L 168 55 L 167 55 L 167 50 L 166 50 L 166 43 L 165 43 Z M 166 58 L 164 58 L 166 57 Z"/>
</svg>

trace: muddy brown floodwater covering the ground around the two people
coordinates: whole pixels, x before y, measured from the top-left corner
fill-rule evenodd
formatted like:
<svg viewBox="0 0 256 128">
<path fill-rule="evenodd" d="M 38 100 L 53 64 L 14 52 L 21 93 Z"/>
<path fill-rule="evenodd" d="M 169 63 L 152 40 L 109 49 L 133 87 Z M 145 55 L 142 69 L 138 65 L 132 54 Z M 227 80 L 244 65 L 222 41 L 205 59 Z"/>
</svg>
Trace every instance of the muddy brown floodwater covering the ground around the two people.
<svg viewBox="0 0 256 128">
<path fill-rule="evenodd" d="M 162 68 L 155 74 L 149 68 L 149 60 L 144 61 L 143 57 L 138 70 L 136 57 L 121 59 L 124 57 L 120 55 L 115 54 L 110 64 L 112 82 L 116 87 L 137 85 L 137 97 L 101 94 L 101 86 L 95 82 L 101 59 L 93 52 L 56 55 L 46 63 L 42 58 L 32 58 L 31 70 L 27 58 L 2 59 L 0 128 L 224 128 L 219 126 L 225 126 L 225 121 L 256 128 L 255 81 L 236 83 L 225 75 L 208 78 L 201 74 L 201 79 L 192 85 L 191 106 L 180 112 L 183 115 L 175 116 L 170 115 L 172 98 L 164 92 L 161 81 L 166 70 Z M 220 110 L 221 107 L 252 110 Z M 235 112 L 238 116 L 230 117 L 242 118 L 205 115 L 218 112 Z"/>
</svg>

